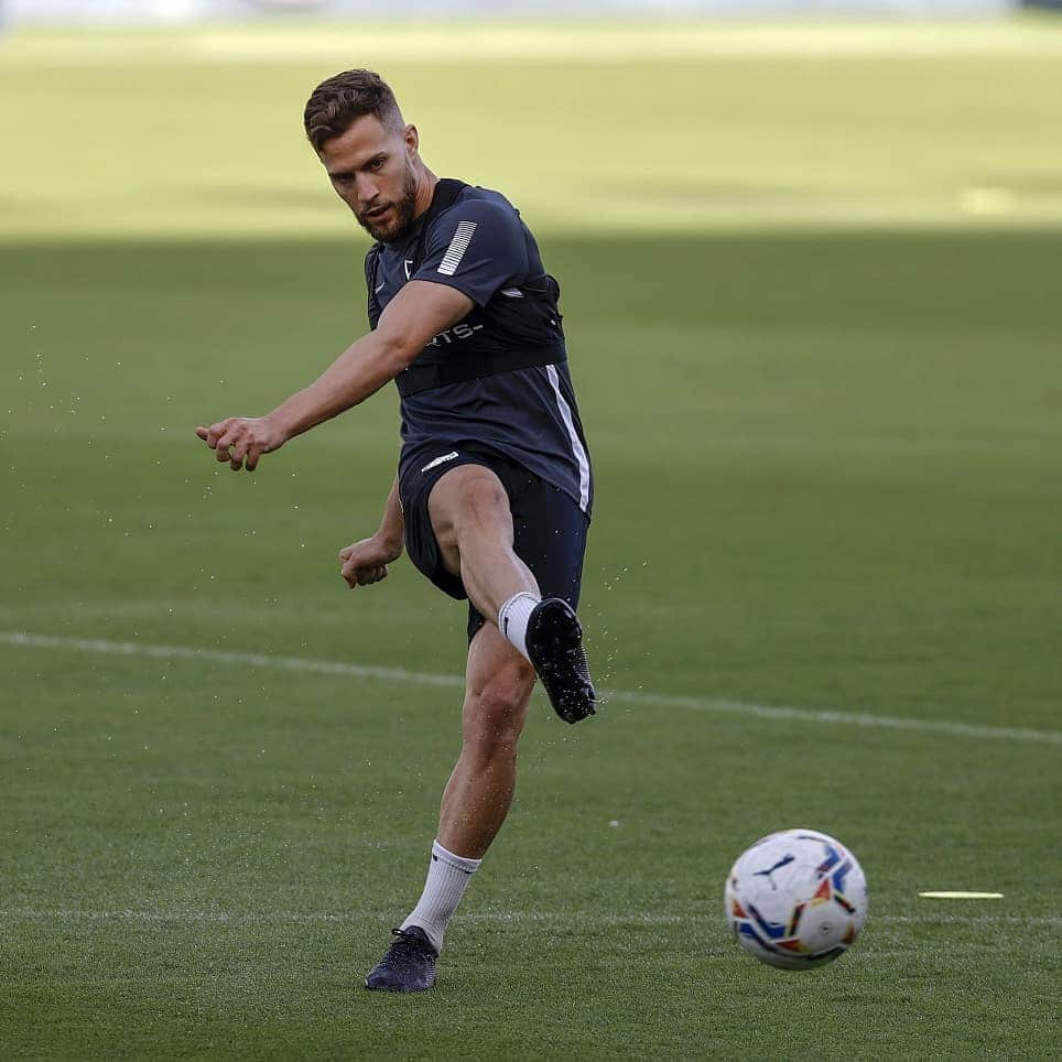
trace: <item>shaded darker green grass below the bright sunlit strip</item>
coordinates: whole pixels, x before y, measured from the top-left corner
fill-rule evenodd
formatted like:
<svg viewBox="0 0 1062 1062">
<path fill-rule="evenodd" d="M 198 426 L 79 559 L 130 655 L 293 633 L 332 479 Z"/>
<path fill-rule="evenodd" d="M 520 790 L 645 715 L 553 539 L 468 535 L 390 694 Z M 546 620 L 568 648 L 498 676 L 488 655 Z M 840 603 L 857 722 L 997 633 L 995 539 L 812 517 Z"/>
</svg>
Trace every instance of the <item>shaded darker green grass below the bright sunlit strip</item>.
<svg viewBox="0 0 1062 1062">
<path fill-rule="evenodd" d="M 1058 732 L 1055 236 L 544 241 L 598 469 L 582 609 L 625 691 Z M 361 327 L 360 247 L 8 246 L 0 629 L 457 675 L 407 564 L 350 595 L 394 399 L 217 470 L 196 423 Z M 419 891 L 456 687 L 0 644 L 0 1054 L 1051 1053 L 1059 745 L 535 700 L 431 998 L 358 987 Z M 618 825 L 611 825 L 617 823 Z M 759 967 L 723 877 L 787 825 L 871 888 Z M 928 888 L 1004 891 L 933 906 Z"/>
</svg>

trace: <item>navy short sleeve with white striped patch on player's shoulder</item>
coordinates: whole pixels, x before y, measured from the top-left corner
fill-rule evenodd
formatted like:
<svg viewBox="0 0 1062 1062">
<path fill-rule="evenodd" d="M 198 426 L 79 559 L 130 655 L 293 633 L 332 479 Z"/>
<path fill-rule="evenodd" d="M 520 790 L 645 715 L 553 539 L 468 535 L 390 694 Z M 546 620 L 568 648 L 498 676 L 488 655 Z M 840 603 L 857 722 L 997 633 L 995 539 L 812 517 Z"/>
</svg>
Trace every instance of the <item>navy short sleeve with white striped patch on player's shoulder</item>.
<svg viewBox="0 0 1062 1062">
<path fill-rule="evenodd" d="M 433 225 L 424 261 L 410 280 L 446 284 L 486 306 L 502 288 L 528 274 L 528 243 L 520 216 L 485 199 L 455 204 Z"/>
</svg>

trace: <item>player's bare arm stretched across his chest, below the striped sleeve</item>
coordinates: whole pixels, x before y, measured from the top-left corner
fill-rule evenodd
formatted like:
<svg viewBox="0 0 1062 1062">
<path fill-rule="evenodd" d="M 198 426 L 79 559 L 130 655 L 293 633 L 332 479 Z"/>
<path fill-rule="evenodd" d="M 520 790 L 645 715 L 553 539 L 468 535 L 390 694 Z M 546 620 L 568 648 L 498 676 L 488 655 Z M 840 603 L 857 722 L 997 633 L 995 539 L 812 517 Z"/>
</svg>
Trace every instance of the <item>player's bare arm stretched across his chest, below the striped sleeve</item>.
<svg viewBox="0 0 1062 1062">
<path fill-rule="evenodd" d="M 364 402 L 472 307 L 473 301 L 453 288 L 411 281 L 388 304 L 376 330 L 350 344 L 310 387 L 266 416 L 230 416 L 197 427 L 196 435 L 234 472 L 253 472 L 262 454 Z"/>
</svg>

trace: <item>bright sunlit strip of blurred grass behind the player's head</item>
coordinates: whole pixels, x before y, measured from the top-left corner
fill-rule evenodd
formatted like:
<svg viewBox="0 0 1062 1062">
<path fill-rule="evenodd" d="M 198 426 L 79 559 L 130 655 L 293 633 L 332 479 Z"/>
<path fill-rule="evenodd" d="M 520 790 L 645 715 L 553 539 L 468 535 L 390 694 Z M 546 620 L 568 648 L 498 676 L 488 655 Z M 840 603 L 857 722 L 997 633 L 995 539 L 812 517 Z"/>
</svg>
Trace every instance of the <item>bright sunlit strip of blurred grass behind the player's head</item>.
<svg viewBox="0 0 1062 1062">
<path fill-rule="evenodd" d="M 296 24 L 0 40 L 0 238 L 339 238 L 300 123 L 350 65 L 541 231 L 1062 220 L 1053 21 Z"/>
</svg>

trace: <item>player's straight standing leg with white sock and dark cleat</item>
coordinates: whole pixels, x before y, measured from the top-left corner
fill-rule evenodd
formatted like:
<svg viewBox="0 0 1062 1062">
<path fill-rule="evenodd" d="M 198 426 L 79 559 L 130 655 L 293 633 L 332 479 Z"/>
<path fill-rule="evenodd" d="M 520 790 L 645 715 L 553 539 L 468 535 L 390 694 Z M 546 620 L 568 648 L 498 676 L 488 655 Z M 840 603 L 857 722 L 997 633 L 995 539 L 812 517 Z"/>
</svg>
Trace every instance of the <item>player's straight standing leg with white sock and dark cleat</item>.
<svg viewBox="0 0 1062 1062">
<path fill-rule="evenodd" d="M 480 627 L 468 648 L 460 757 L 443 792 L 427 881 L 366 987 L 420 991 L 434 984 L 446 926 L 512 803 L 533 685 L 531 664 L 492 624 Z"/>
</svg>

